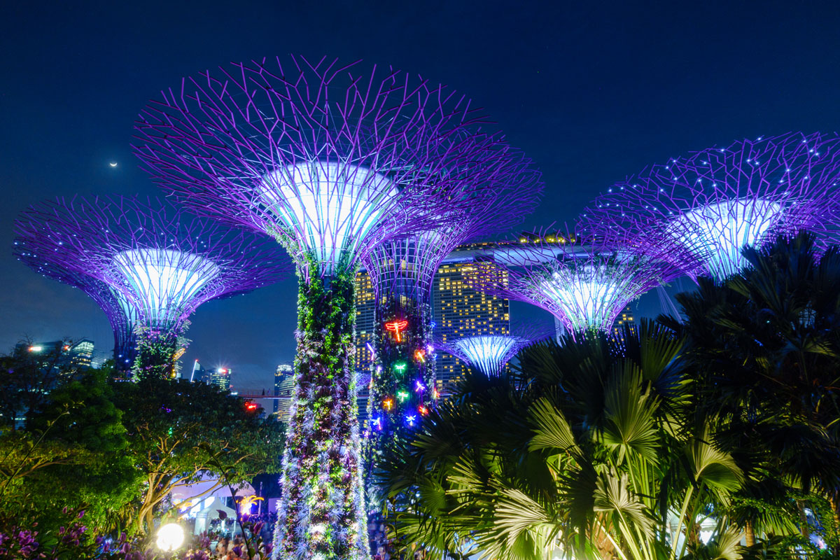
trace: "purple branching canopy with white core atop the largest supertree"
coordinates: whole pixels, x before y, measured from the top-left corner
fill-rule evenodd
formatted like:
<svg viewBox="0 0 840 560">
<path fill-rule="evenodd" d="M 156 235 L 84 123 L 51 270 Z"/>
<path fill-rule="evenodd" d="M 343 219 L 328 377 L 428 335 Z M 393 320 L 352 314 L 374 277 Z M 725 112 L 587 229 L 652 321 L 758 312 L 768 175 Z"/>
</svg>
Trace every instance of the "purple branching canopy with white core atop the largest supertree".
<svg viewBox="0 0 840 560">
<path fill-rule="evenodd" d="M 396 71 L 291 57 L 234 64 L 150 103 L 136 153 L 202 214 L 269 233 L 305 275 L 436 225 L 454 191 L 507 165 L 470 103 Z"/>
</svg>

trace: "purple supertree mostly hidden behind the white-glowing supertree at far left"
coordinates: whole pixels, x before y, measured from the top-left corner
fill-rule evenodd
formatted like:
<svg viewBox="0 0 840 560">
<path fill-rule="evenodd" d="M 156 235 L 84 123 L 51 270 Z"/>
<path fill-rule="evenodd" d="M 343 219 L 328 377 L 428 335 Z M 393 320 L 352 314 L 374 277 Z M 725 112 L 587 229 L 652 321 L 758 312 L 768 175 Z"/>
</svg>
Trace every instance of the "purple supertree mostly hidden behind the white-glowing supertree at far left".
<svg viewBox="0 0 840 560">
<path fill-rule="evenodd" d="M 134 332 L 138 324 L 137 310 L 120 305 L 118 296 L 102 280 L 70 270 L 59 261 L 39 258 L 25 247 L 24 239 L 14 241 L 15 258 L 40 275 L 78 288 L 102 308 L 113 330 L 114 367 L 122 371 L 131 369 L 137 357 L 137 335 Z"/>
</svg>

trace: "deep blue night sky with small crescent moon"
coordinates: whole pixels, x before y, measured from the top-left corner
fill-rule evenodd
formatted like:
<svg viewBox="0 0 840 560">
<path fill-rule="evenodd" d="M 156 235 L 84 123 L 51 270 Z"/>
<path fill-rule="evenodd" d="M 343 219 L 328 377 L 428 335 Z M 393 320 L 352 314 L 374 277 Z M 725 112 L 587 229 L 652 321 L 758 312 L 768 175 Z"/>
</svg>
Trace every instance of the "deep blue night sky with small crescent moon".
<svg viewBox="0 0 840 560">
<path fill-rule="evenodd" d="M 53 196 L 158 194 L 131 154 L 135 116 L 230 61 L 364 59 L 464 92 L 543 171 L 530 228 L 573 221 L 613 181 L 671 156 L 840 128 L 837 2 L 4 5 L 0 351 L 24 336 L 110 350 L 96 304 L 12 258 L 14 217 Z M 235 385 L 269 386 L 294 353 L 295 296 L 291 279 L 204 304 L 185 368 L 200 359 L 233 368 Z M 655 297 L 640 311 L 658 312 Z"/>
</svg>

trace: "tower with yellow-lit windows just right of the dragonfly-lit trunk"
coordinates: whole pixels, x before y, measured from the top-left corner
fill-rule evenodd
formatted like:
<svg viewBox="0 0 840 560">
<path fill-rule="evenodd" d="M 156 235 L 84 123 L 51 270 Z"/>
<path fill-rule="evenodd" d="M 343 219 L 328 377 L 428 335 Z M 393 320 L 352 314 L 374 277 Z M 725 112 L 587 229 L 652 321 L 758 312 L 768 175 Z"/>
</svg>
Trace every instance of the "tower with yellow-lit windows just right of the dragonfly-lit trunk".
<svg viewBox="0 0 840 560">
<path fill-rule="evenodd" d="M 465 282 L 465 273 L 470 274 L 475 266 L 481 264 L 444 263 L 438 269 L 434 279 L 433 321 L 436 337 L 444 343 L 466 336 L 510 333 L 509 302 L 483 294 Z M 448 392 L 445 388 L 466 371 L 467 367 L 461 360 L 449 353 L 438 352 L 436 376 L 439 391 Z"/>
</svg>

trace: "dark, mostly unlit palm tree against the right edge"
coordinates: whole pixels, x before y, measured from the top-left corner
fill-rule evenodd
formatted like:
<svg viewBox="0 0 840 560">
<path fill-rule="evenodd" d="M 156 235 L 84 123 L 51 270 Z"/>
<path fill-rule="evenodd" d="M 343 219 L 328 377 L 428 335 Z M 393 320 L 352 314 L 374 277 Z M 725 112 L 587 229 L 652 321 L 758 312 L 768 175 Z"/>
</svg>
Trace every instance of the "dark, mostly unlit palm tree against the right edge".
<svg viewBox="0 0 840 560">
<path fill-rule="evenodd" d="M 683 324 L 660 321 L 688 338 L 698 403 L 747 474 L 732 515 L 748 544 L 756 529 L 785 535 L 796 525 L 807 541 L 806 507 L 820 500 L 836 535 L 840 254 L 820 255 L 807 233 L 743 254 L 738 275 L 677 296 Z"/>
</svg>

